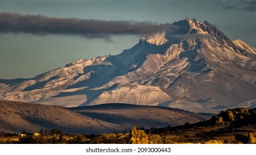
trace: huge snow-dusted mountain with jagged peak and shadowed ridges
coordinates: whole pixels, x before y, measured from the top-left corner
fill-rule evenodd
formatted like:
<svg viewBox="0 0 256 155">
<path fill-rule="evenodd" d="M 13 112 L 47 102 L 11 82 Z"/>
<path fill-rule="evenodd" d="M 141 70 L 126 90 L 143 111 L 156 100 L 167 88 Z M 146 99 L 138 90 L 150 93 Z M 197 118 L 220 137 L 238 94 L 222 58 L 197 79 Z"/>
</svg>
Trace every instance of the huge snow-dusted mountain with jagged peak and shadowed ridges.
<svg viewBox="0 0 256 155">
<path fill-rule="evenodd" d="M 119 55 L 32 79 L 0 80 L 0 99 L 60 106 L 127 103 L 219 112 L 256 106 L 256 49 L 208 22 L 181 20 Z"/>
</svg>

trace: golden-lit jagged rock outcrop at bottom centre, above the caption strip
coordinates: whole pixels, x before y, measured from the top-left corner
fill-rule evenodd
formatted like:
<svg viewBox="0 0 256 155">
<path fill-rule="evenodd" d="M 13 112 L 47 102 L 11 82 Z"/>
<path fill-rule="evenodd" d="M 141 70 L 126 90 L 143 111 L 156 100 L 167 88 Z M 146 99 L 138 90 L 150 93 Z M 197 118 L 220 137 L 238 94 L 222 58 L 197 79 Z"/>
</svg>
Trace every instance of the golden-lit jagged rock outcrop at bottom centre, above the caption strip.
<svg viewBox="0 0 256 155">
<path fill-rule="evenodd" d="M 163 138 L 159 135 L 147 135 L 144 130 L 136 129 L 132 127 L 130 132 L 130 139 L 127 142 L 129 144 L 171 144 L 170 139 Z"/>
</svg>

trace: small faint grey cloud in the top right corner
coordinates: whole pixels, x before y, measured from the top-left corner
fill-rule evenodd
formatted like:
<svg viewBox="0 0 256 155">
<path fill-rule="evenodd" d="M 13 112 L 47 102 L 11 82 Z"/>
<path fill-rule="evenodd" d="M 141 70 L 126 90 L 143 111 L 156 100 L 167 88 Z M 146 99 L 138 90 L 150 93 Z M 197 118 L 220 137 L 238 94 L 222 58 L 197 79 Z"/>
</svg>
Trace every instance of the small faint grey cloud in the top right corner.
<svg viewBox="0 0 256 155">
<path fill-rule="evenodd" d="M 237 9 L 237 10 L 245 10 L 249 12 L 256 12 L 256 0 L 252 1 L 225 1 L 222 3 L 223 9 Z"/>
</svg>

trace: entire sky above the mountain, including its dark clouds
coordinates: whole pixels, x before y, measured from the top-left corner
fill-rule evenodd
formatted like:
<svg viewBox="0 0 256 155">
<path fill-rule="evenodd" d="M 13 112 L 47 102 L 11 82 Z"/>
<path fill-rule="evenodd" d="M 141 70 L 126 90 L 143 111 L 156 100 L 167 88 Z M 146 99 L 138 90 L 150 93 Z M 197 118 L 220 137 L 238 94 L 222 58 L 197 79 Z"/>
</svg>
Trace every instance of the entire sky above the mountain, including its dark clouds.
<svg viewBox="0 0 256 155">
<path fill-rule="evenodd" d="M 256 47 L 256 0 L 0 0 L 0 79 L 116 55 L 186 17 Z"/>
</svg>

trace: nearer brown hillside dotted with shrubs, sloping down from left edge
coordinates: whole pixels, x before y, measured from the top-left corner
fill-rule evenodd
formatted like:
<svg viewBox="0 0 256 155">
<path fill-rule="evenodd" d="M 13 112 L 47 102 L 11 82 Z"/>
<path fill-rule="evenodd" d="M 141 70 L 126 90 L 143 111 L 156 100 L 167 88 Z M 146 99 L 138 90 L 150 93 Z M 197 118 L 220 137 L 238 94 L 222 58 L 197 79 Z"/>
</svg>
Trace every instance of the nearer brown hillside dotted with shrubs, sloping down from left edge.
<svg viewBox="0 0 256 155">
<path fill-rule="evenodd" d="M 90 118 L 59 106 L 0 101 L 0 131 L 38 132 L 58 129 L 69 133 L 106 133 L 118 131 L 115 124 Z"/>
</svg>

